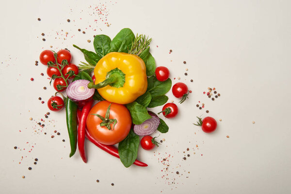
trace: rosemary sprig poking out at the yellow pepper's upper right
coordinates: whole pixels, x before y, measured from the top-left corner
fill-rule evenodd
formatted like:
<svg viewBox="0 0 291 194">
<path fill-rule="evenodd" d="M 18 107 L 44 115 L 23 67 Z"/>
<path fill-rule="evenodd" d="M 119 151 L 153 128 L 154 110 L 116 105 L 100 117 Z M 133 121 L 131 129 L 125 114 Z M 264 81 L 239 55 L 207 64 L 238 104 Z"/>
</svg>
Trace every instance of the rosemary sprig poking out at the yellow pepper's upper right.
<svg viewBox="0 0 291 194">
<path fill-rule="evenodd" d="M 129 50 L 129 54 L 135 54 L 139 56 L 147 47 L 149 46 L 152 39 L 148 39 L 148 36 L 143 34 L 136 34 L 134 40 L 132 40 L 131 48 Z"/>
</svg>

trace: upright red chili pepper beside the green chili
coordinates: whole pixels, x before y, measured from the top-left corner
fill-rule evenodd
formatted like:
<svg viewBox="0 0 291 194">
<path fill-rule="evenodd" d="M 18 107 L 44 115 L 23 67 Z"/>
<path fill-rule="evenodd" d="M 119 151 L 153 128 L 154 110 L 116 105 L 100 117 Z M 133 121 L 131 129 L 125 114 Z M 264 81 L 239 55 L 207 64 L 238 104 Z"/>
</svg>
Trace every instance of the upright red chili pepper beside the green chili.
<svg viewBox="0 0 291 194">
<path fill-rule="evenodd" d="M 86 120 L 87 116 L 89 114 L 89 111 L 91 109 L 93 100 L 90 100 L 85 104 L 85 106 L 82 109 L 82 112 L 78 109 L 78 120 L 79 120 L 79 125 L 78 125 L 78 148 L 79 148 L 79 153 L 81 155 L 82 160 L 87 163 L 87 158 L 85 154 L 85 149 L 84 149 L 84 142 L 85 142 L 85 130 L 86 130 Z M 81 112 L 81 114 L 79 113 Z"/>
</svg>

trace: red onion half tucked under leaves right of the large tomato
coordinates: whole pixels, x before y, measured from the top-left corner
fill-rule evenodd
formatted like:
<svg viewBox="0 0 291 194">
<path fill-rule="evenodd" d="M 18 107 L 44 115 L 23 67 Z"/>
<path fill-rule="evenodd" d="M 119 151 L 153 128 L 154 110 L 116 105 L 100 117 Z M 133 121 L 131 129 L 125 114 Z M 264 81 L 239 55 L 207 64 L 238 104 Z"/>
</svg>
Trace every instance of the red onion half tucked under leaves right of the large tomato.
<svg viewBox="0 0 291 194">
<path fill-rule="evenodd" d="M 142 136 L 150 135 L 158 129 L 160 125 L 159 117 L 153 112 L 148 111 L 148 113 L 152 116 L 150 119 L 147 119 L 140 125 L 133 126 L 133 131 L 135 134 Z"/>
</svg>

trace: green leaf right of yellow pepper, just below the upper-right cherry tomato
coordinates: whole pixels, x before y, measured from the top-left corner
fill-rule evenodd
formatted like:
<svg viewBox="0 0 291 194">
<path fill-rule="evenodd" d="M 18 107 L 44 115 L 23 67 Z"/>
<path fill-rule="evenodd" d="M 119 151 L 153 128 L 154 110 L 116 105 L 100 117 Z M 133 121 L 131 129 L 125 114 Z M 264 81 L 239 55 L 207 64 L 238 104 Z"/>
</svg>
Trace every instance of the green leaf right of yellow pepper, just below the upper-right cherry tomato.
<svg viewBox="0 0 291 194">
<path fill-rule="evenodd" d="M 168 78 L 166 81 L 158 81 L 156 77 L 152 76 L 147 79 L 147 92 L 152 95 L 152 98 L 162 96 L 169 92 L 172 86 L 172 81 Z"/>
</svg>

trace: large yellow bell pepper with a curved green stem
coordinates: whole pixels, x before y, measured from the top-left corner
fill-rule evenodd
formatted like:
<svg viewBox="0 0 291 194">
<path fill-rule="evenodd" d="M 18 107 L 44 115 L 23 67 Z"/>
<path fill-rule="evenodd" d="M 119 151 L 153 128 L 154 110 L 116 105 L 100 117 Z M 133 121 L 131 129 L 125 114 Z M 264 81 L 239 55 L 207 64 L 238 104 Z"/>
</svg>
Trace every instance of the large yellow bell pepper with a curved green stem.
<svg viewBox="0 0 291 194">
<path fill-rule="evenodd" d="M 137 55 L 110 52 L 100 59 L 94 69 L 96 88 L 106 100 L 128 104 L 146 92 L 146 65 Z"/>
</svg>

